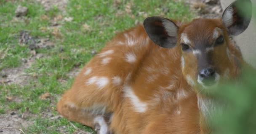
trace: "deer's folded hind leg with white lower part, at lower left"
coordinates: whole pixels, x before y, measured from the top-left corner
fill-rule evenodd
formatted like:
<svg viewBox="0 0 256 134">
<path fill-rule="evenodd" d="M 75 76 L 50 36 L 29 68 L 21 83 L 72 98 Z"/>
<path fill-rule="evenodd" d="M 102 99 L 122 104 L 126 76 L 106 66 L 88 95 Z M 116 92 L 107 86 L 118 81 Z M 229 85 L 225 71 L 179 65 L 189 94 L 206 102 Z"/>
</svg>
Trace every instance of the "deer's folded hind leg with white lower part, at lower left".
<svg viewBox="0 0 256 134">
<path fill-rule="evenodd" d="M 105 106 L 92 105 L 90 107 L 77 106 L 72 101 L 71 94 L 64 94 L 57 104 L 57 111 L 68 120 L 76 121 L 94 129 L 97 134 L 110 134 L 109 120 L 111 113 L 105 113 Z"/>
</svg>

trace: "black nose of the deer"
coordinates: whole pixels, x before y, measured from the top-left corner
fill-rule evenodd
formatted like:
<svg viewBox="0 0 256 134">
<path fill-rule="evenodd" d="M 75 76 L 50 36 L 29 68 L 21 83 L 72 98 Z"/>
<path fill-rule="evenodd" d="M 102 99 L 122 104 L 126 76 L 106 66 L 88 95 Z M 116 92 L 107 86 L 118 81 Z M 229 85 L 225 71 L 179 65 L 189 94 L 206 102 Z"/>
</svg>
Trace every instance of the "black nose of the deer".
<svg viewBox="0 0 256 134">
<path fill-rule="evenodd" d="M 199 72 L 199 76 L 203 78 L 204 81 L 213 81 L 215 79 L 215 70 L 211 67 L 205 68 Z"/>
</svg>

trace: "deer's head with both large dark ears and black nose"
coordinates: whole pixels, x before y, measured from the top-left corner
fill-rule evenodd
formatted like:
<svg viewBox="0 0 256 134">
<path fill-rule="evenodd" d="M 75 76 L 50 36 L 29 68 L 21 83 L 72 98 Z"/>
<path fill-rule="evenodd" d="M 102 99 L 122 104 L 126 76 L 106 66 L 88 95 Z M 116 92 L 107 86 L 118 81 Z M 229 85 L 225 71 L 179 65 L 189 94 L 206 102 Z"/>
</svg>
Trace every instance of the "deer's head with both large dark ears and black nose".
<svg viewBox="0 0 256 134">
<path fill-rule="evenodd" d="M 195 19 L 178 26 L 167 18 L 153 16 L 145 19 L 144 28 L 155 44 L 181 53 L 181 70 L 189 85 L 211 88 L 220 79 L 230 77 L 228 72 L 235 59 L 229 53 L 229 36 L 239 35 L 248 27 L 251 7 L 245 15 L 239 7 L 246 2 L 251 3 L 235 1 L 220 19 Z"/>
</svg>

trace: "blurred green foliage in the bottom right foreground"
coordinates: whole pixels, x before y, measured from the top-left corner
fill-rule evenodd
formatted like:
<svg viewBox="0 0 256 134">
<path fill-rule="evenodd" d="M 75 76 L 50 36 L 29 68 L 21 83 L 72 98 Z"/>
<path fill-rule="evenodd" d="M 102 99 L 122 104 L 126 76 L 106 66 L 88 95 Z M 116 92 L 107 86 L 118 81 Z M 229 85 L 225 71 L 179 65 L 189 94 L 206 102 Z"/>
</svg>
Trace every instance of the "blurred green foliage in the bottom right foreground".
<svg viewBox="0 0 256 134">
<path fill-rule="evenodd" d="M 239 82 L 223 84 L 213 95 L 225 103 L 211 120 L 214 134 L 256 134 L 256 71 L 246 70 Z"/>
</svg>

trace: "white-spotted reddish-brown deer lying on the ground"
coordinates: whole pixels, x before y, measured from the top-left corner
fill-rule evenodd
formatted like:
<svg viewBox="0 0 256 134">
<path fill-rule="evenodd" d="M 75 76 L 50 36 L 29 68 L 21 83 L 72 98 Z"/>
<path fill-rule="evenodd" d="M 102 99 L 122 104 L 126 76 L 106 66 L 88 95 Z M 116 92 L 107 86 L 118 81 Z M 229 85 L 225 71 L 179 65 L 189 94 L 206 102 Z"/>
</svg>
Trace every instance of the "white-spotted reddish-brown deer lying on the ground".
<svg viewBox="0 0 256 134">
<path fill-rule="evenodd" d="M 215 98 L 203 92 L 236 80 L 247 64 L 229 39 L 251 21 L 238 7 L 244 2 L 218 19 L 151 16 L 118 33 L 83 67 L 57 111 L 97 134 L 213 133 L 207 119 Z"/>
</svg>

